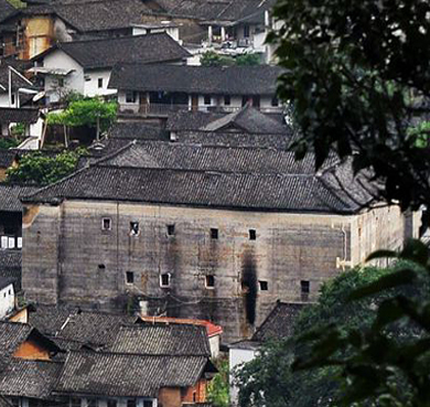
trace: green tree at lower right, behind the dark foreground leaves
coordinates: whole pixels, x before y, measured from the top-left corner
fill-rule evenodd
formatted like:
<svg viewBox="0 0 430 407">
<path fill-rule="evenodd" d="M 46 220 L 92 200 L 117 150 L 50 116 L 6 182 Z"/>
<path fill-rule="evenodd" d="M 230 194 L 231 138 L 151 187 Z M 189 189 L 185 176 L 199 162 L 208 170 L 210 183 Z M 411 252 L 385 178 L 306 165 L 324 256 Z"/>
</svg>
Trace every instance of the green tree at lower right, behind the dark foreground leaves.
<svg viewBox="0 0 430 407">
<path fill-rule="evenodd" d="M 381 278 L 393 278 L 405 266 L 411 265 L 401 263 L 390 269 L 356 268 L 324 283 L 318 303 L 308 306 L 299 315 L 294 324 L 294 336 L 266 344 L 254 361 L 238 371 L 240 406 L 336 405 L 345 394 L 347 383 L 342 365 L 313 362 L 315 357 L 324 357 L 329 353 L 337 358 L 356 356 L 354 347 L 336 346 L 338 338 L 346 339 L 351 335 L 353 340 L 359 341 L 358 338 L 364 336 L 377 323 L 375 310 L 379 304 L 393 301 L 400 294 L 410 299 L 430 299 L 430 276 L 423 274 L 420 285 L 405 283 L 384 292 L 373 292 L 355 302 L 350 301 L 352 293 L 366 289 Z M 419 268 L 413 266 L 412 269 Z M 335 326 L 335 331 L 331 326 Z M 303 332 L 307 332 L 307 341 L 302 339 Z M 394 343 L 402 345 L 424 336 L 422 329 L 406 321 L 388 324 L 386 334 Z M 297 360 L 312 363 L 307 369 L 294 371 L 292 366 Z M 394 378 L 399 377 L 399 371 L 394 371 Z M 372 379 L 373 376 L 369 376 L 369 381 Z M 407 381 L 401 383 L 401 401 L 408 405 L 411 386 Z"/>
</svg>

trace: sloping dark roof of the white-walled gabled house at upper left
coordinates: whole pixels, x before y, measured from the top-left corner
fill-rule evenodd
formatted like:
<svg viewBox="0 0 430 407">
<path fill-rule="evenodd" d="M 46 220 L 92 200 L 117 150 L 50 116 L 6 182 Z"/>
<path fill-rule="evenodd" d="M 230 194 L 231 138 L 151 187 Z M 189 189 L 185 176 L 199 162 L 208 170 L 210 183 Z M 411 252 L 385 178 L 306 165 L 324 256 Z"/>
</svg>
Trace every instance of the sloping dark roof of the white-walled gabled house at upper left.
<svg viewBox="0 0 430 407">
<path fill-rule="evenodd" d="M 189 52 L 165 33 L 115 39 L 63 42 L 37 55 L 60 49 L 85 68 L 110 68 L 117 63 L 159 63 L 181 61 Z"/>
</svg>

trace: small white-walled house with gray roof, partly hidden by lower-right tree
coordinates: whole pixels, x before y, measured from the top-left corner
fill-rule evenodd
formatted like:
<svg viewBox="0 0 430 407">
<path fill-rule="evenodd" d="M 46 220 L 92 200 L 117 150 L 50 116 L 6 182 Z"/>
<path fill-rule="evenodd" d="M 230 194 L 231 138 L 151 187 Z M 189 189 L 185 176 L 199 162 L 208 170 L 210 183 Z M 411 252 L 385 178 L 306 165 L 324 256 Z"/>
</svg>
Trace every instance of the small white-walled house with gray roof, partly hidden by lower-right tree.
<svg viewBox="0 0 430 407">
<path fill-rule="evenodd" d="M 303 309 L 303 303 L 277 301 L 266 320 L 258 326 L 250 340 L 232 343 L 228 352 L 229 364 L 229 397 L 230 405 L 237 406 L 238 388 L 234 374 L 244 363 L 252 361 L 258 355 L 260 346 L 268 341 L 281 341 L 292 336 L 295 319 Z"/>
</svg>

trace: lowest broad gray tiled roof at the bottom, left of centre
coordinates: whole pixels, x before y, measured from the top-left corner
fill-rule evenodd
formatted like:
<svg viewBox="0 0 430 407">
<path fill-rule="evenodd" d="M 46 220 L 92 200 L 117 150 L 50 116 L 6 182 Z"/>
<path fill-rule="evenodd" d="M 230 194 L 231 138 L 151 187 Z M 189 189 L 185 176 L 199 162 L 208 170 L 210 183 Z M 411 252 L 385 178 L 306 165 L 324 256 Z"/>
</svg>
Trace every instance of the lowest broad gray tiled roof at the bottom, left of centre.
<svg viewBox="0 0 430 407">
<path fill-rule="evenodd" d="M 161 387 L 194 385 L 206 363 L 206 356 L 71 352 L 56 392 L 107 397 L 157 397 Z"/>
</svg>

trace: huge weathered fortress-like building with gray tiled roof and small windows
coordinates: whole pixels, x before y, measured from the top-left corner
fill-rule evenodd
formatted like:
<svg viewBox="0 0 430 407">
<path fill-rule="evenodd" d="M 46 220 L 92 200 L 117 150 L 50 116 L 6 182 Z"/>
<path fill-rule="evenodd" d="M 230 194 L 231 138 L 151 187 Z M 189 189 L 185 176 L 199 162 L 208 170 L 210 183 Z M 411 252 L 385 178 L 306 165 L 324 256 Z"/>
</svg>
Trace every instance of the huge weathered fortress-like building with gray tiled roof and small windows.
<svg viewBox="0 0 430 407">
<path fill-rule="evenodd" d="M 313 300 L 417 235 L 418 215 L 364 208 L 369 189 L 336 160 L 315 174 L 312 157 L 281 150 L 132 142 L 24 200 L 23 288 L 41 303 L 208 319 L 243 339 L 276 300 Z"/>
</svg>

